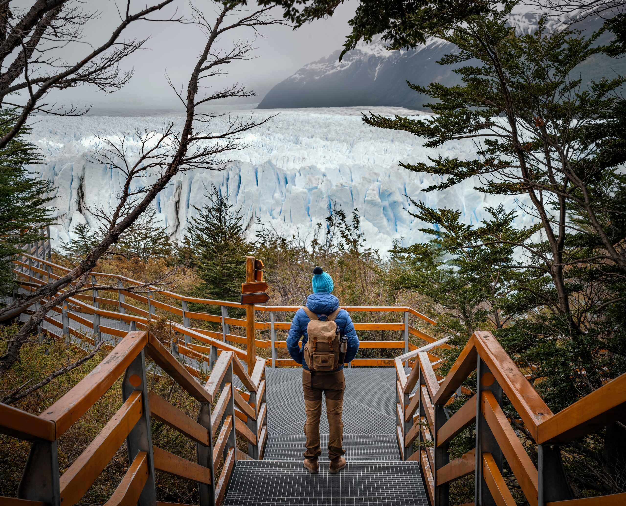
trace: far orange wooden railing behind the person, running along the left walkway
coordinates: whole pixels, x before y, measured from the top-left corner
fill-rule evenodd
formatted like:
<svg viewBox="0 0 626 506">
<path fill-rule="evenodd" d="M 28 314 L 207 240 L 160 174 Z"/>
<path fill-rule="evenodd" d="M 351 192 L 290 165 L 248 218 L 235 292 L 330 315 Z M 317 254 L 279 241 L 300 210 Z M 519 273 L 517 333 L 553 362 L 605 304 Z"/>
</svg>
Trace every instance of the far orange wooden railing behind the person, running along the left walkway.
<svg viewBox="0 0 626 506">
<path fill-rule="evenodd" d="M 14 261 L 14 274 L 21 280 L 22 286 L 26 290 L 34 290 L 49 280 L 58 279 L 62 274 L 69 272 L 66 267 L 58 266 L 53 262 L 42 259 L 29 254 L 24 254 L 21 260 Z M 117 284 L 115 289 L 110 288 L 112 284 Z M 182 339 L 175 339 L 172 344 L 172 352 L 174 354 L 183 354 L 195 360 L 204 360 L 210 363 L 215 360 L 215 351 L 226 349 L 233 351 L 239 358 L 245 359 L 246 351 L 231 346 L 228 343 L 246 344 L 245 336 L 237 335 L 231 332 L 231 327 L 245 329 L 247 321 L 245 319 L 230 318 L 228 309 L 245 308 L 239 302 L 217 301 L 213 299 L 202 299 L 198 297 L 182 296 L 172 291 L 163 290 L 156 286 L 145 286 L 139 281 L 117 274 L 103 274 L 94 272 L 91 276 L 92 294 L 76 294 L 67 299 L 67 303 L 63 307 L 57 307 L 56 312 L 61 314 L 61 322 L 54 318 L 46 318 L 46 321 L 61 329 L 62 336 L 69 342 L 69 337 L 86 340 L 90 343 L 98 343 L 101 334 L 110 334 L 113 336 L 123 336 L 125 331 L 111 328 L 101 324 L 100 318 L 110 318 L 125 321 L 129 324 L 129 329 L 145 329 L 149 319 L 157 316 L 167 318 L 172 329 L 184 336 Z M 145 295 L 129 291 L 129 287 L 142 287 L 146 292 Z M 116 296 L 115 299 L 102 297 L 103 292 L 110 292 Z M 162 300 L 157 300 L 156 296 Z M 145 309 L 137 307 L 129 303 L 130 300 L 140 302 Z M 189 311 L 189 304 L 207 304 L 210 306 L 220 306 L 220 315 L 210 314 L 202 311 Z M 103 309 L 101 306 L 108 306 L 110 309 Z M 180 306 L 180 307 L 178 307 Z M 277 321 L 278 314 L 295 312 L 300 306 L 254 306 L 255 311 L 269 314 L 269 322 L 254 321 L 254 328 L 257 330 L 269 330 L 270 339 L 255 339 L 257 348 L 270 348 L 271 358 L 268 364 L 272 367 L 293 367 L 299 364 L 292 359 L 279 358 L 278 350 L 287 347 L 285 340 L 277 339 L 277 331 L 289 330 L 290 322 Z M 361 341 L 361 349 L 392 349 L 394 351 L 404 351 L 408 353 L 417 348 L 409 341 L 409 336 L 426 341 L 426 343 L 434 343 L 436 338 L 425 333 L 419 328 L 409 324 L 409 316 L 414 316 L 428 324 L 435 325 L 435 321 L 421 312 L 416 311 L 412 307 L 403 306 L 346 306 L 349 312 L 376 312 L 376 313 L 392 313 L 402 314 L 402 321 L 399 323 L 354 323 L 357 331 L 398 331 L 401 333 L 401 340 L 398 341 Z M 82 313 L 82 314 L 81 314 Z M 91 320 L 85 318 L 84 314 L 90 314 Z M 173 319 L 178 317 L 177 319 Z M 253 312 L 254 318 L 254 312 Z M 93 331 L 94 339 L 84 336 L 72 329 L 69 320 L 72 319 L 80 323 L 85 328 Z M 182 323 L 177 320 L 182 320 Z M 212 331 L 197 328 L 192 325 L 193 321 L 208 321 L 219 324 L 222 331 Z M 60 336 L 58 336 L 60 337 Z M 193 343 L 195 339 L 199 343 Z M 208 345 L 208 346 L 207 346 Z M 216 350 L 211 351 L 211 347 Z M 447 344 L 442 346 L 446 347 Z M 211 353 L 213 356 L 211 357 Z M 357 358 L 354 359 L 349 366 L 394 366 L 393 358 Z M 192 371 L 193 373 L 193 371 Z"/>
</svg>

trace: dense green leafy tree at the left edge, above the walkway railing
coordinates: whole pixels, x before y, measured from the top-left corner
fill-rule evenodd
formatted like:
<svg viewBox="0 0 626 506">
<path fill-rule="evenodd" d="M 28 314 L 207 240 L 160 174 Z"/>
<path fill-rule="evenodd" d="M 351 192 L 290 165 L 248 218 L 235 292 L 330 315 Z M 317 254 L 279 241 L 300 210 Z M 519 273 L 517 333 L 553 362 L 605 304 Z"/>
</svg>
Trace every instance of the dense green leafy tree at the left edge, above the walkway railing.
<svg viewBox="0 0 626 506">
<path fill-rule="evenodd" d="M 0 110 L 0 137 L 13 128 L 16 112 Z M 28 244 L 43 239 L 39 227 L 52 223 L 46 204 L 53 197 L 49 182 L 38 179 L 28 166 L 41 162 L 38 148 L 24 140 L 28 128 L 0 149 L 0 290 L 11 292 L 13 287 L 13 258 L 20 251 L 18 244 Z"/>
</svg>

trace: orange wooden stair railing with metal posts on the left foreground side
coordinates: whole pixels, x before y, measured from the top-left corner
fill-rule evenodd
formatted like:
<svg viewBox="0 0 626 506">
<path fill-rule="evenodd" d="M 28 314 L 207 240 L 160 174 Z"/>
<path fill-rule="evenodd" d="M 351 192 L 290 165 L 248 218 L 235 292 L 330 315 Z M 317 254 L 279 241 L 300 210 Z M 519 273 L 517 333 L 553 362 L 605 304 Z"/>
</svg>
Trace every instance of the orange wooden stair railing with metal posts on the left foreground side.
<svg viewBox="0 0 626 506">
<path fill-rule="evenodd" d="M 193 420 L 146 388 L 145 358 L 200 404 Z M 123 405 L 85 451 L 59 476 L 57 440 L 123 374 Z M 235 388 L 239 376 L 247 393 Z M 215 407 L 211 408 L 214 401 Z M 212 412 L 213 411 L 213 412 Z M 153 445 L 150 418 L 156 418 L 197 443 L 197 462 Z M 0 431 L 32 441 L 18 488 L 20 505 L 71 506 L 80 501 L 126 440 L 129 467 L 107 506 L 157 503 L 155 470 L 198 483 L 200 505 L 219 505 L 240 459 L 262 458 L 267 441 L 265 361 L 249 375 L 232 351 L 223 351 L 205 386 L 146 331 L 128 333 L 111 353 L 66 395 L 36 416 L 0 404 Z M 249 455 L 237 449 L 236 435 L 249 443 Z M 217 437 L 216 437 L 217 436 Z M 223 458 L 222 472 L 215 470 Z M 18 502 L 0 497 L 0 503 Z"/>
</svg>

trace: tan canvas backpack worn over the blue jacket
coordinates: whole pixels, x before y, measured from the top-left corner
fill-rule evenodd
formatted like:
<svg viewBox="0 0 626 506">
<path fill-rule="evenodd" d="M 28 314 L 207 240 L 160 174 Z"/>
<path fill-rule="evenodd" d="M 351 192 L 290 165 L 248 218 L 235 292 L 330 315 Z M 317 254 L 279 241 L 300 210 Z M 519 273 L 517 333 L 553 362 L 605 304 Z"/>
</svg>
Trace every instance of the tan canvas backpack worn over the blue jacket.
<svg viewBox="0 0 626 506">
<path fill-rule="evenodd" d="M 304 359 L 311 371 L 334 371 L 339 365 L 339 327 L 335 318 L 339 307 L 328 315 L 326 321 L 317 318 L 317 314 L 308 307 L 303 308 L 309 316 L 307 334 L 309 340 L 304 345 Z"/>
</svg>

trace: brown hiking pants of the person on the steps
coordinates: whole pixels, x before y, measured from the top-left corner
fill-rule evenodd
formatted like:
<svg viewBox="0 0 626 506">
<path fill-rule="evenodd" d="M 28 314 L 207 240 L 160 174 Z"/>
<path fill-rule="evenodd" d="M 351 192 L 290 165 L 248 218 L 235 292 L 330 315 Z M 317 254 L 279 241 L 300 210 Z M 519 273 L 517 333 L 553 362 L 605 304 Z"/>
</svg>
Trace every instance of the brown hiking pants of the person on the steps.
<svg viewBox="0 0 626 506">
<path fill-rule="evenodd" d="M 346 453 L 342 445 L 344 423 L 341 420 L 344 390 L 346 390 L 344 371 L 316 373 L 302 369 L 302 389 L 307 412 L 307 421 L 304 424 L 307 450 L 304 452 L 304 458 L 317 460 L 322 453 L 319 447 L 319 419 L 322 415 L 322 392 L 324 392 L 329 427 L 328 457 L 331 460 L 337 460 Z"/>
</svg>

